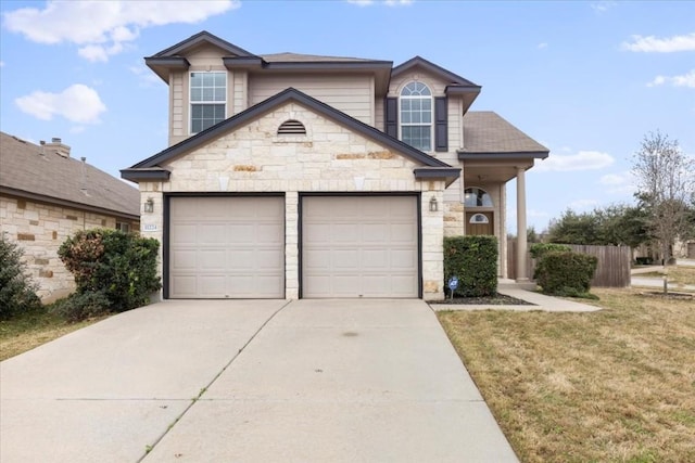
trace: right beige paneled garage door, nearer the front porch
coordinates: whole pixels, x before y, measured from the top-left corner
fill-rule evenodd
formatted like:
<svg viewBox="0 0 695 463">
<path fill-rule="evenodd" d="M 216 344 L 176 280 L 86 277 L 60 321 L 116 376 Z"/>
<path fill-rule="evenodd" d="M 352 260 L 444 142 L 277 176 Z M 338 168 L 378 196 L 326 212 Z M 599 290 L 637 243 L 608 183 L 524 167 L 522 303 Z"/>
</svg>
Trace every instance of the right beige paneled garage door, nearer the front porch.
<svg viewBox="0 0 695 463">
<path fill-rule="evenodd" d="M 302 198 L 303 297 L 418 297 L 415 196 Z"/>
</svg>

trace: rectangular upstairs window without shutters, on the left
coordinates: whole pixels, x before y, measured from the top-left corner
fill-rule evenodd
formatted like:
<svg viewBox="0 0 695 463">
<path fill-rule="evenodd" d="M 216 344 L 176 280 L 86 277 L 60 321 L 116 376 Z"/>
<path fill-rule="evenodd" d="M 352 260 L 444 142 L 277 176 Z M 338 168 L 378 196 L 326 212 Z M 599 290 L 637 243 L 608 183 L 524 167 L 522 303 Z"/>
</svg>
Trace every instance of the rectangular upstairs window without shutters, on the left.
<svg viewBox="0 0 695 463">
<path fill-rule="evenodd" d="M 227 73 L 191 73 L 191 133 L 222 123 L 227 108 Z"/>
</svg>

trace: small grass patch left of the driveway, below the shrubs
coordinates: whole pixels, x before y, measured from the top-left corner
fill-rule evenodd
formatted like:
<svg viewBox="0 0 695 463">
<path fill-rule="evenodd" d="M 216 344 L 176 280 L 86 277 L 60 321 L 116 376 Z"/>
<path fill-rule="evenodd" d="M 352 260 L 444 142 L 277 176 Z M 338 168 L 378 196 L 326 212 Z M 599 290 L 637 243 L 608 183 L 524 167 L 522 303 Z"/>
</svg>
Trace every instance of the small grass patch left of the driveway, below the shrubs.
<svg viewBox="0 0 695 463">
<path fill-rule="evenodd" d="M 79 330 L 106 317 L 68 323 L 50 314 L 46 308 L 23 313 L 12 320 L 0 321 L 0 361 L 17 356 L 49 340 Z"/>
</svg>

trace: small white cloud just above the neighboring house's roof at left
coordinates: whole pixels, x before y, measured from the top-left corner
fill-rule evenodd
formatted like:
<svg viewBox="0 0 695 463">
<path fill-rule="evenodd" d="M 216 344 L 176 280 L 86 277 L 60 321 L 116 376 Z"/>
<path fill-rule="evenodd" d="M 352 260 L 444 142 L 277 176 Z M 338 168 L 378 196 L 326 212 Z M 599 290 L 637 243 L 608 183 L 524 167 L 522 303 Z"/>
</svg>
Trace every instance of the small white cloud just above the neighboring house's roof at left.
<svg viewBox="0 0 695 463">
<path fill-rule="evenodd" d="M 41 120 L 62 116 L 77 124 L 98 124 L 106 106 L 99 93 L 83 83 L 70 86 L 60 93 L 37 90 L 14 100 L 22 112 Z"/>
</svg>

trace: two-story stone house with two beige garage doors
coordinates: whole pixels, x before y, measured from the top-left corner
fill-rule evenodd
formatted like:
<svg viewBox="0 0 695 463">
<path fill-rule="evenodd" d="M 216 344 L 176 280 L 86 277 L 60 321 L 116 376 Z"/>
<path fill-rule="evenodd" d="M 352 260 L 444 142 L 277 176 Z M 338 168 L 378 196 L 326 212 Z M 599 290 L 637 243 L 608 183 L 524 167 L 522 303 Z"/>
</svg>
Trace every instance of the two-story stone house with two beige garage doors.
<svg viewBox="0 0 695 463">
<path fill-rule="evenodd" d="M 169 86 L 169 147 L 122 176 L 152 205 L 163 297 L 437 299 L 460 234 L 497 236 L 506 275 L 505 184 L 526 230 L 548 150 L 470 112 L 479 86 L 419 56 L 256 55 L 206 31 L 146 63 Z"/>
</svg>

